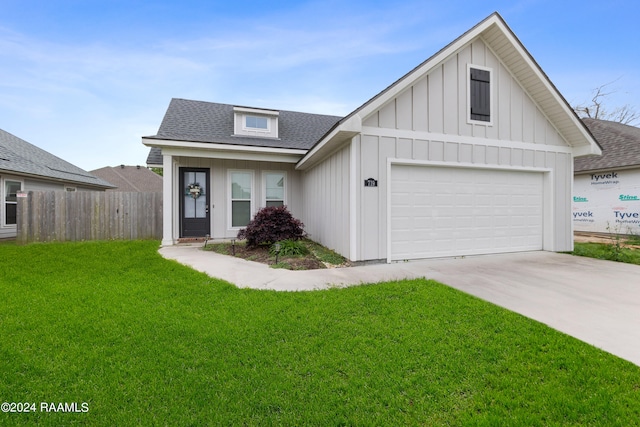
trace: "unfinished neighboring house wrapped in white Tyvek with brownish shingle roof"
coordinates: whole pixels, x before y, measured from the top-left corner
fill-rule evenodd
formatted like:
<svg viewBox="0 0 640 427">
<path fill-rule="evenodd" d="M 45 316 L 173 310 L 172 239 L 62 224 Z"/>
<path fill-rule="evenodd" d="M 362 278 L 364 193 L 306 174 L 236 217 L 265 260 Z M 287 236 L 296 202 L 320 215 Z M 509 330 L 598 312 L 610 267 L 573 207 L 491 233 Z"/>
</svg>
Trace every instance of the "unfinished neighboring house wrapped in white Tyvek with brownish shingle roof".
<svg viewBox="0 0 640 427">
<path fill-rule="evenodd" d="M 640 234 L 640 128 L 583 121 L 602 146 L 602 156 L 575 160 L 574 229 Z"/>
</svg>

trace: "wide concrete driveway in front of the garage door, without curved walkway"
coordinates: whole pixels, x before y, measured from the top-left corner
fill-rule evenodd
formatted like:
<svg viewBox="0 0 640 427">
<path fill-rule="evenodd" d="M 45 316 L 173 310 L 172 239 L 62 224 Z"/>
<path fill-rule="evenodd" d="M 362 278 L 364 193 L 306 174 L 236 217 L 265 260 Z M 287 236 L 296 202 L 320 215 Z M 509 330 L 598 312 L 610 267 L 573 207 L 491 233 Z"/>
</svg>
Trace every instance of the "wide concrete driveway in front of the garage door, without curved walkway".
<svg viewBox="0 0 640 427">
<path fill-rule="evenodd" d="M 640 366 L 640 266 L 551 252 L 425 264 L 428 278 Z"/>
</svg>

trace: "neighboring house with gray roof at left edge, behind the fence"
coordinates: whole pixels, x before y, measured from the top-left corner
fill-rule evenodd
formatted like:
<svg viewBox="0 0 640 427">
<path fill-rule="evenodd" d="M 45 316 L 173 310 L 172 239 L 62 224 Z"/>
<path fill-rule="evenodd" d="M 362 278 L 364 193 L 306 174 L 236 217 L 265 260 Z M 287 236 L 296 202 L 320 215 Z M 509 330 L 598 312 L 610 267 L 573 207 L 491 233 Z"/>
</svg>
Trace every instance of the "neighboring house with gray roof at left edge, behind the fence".
<svg viewBox="0 0 640 427">
<path fill-rule="evenodd" d="M 0 238 L 16 236 L 20 191 L 104 191 L 112 185 L 0 129 Z"/>
</svg>

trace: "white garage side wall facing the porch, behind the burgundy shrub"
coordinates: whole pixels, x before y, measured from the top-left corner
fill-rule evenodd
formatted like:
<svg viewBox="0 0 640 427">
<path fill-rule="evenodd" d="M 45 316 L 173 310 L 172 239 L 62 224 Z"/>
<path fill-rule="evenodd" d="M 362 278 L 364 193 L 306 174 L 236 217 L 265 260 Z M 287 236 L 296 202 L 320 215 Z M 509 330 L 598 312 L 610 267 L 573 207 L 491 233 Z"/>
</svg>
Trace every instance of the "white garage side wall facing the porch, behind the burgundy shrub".
<svg viewBox="0 0 640 427">
<path fill-rule="evenodd" d="M 350 257 L 350 145 L 305 171 L 304 222 L 309 237 Z"/>
</svg>

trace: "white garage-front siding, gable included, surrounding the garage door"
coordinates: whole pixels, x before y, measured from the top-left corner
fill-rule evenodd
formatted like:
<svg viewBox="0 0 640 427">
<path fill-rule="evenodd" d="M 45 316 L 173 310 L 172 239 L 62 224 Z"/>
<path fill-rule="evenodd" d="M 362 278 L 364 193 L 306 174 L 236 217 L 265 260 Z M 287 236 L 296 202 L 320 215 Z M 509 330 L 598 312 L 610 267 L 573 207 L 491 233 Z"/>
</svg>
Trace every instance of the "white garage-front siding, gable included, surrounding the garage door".
<svg viewBox="0 0 640 427">
<path fill-rule="evenodd" d="M 468 66 L 492 70 L 492 124 L 469 123 Z M 571 148 L 481 39 L 477 39 L 363 120 L 358 153 L 358 260 L 385 259 L 389 159 L 540 169 L 545 173 L 545 250 L 573 249 Z M 367 178 L 378 187 L 363 188 Z"/>
</svg>

